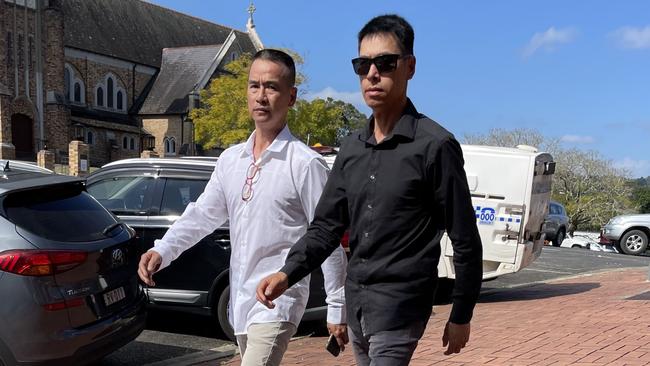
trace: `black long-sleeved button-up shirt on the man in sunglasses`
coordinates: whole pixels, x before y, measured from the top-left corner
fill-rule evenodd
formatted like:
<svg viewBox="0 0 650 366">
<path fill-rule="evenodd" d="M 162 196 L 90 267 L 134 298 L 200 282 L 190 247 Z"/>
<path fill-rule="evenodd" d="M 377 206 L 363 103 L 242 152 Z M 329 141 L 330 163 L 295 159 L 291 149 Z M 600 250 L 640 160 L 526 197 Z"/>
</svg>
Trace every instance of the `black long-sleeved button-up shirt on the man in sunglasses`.
<svg viewBox="0 0 650 366">
<path fill-rule="evenodd" d="M 350 228 L 348 322 L 368 332 L 431 315 L 440 239 L 454 248 L 450 320 L 470 321 L 481 287 L 482 246 L 463 154 L 453 135 L 411 101 L 392 134 L 377 143 L 374 120 L 342 144 L 307 233 L 281 269 L 290 285 L 317 268 Z"/>
</svg>

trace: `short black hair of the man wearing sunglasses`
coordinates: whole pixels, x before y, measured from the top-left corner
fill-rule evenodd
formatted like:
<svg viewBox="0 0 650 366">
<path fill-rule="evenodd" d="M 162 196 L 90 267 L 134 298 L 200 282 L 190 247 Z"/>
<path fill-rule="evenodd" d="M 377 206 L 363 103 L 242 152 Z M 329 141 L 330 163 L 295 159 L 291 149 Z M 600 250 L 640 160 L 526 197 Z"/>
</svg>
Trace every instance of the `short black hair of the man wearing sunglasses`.
<svg viewBox="0 0 650 366">
<path fill-rule="evenodd" d="M 367 36 L 381 33 L 395 36 L 403 55 L 413 54 L 413 40 L 415 39 L 413 27 L 406 19 L 396 14 L 380 15 L 366 23 L 359 31 L 359 47 L 361 47 L 361 41 Z"/>
</svg>

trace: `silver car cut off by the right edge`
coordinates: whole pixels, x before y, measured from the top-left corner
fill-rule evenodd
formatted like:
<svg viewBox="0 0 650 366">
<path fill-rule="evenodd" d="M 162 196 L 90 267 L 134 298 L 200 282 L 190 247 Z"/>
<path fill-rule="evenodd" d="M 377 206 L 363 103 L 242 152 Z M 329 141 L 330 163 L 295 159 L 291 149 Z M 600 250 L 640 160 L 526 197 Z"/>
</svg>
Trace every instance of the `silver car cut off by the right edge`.
<svg viewBox="0 0 650 366">
<path fill-rule="evenodd" d="M 616 216 L 601 230 L 601 242 L 611 242 L 625 254 L 645 253 L 648 249 L 648 237 L 650 214 Z"/>
</svg>

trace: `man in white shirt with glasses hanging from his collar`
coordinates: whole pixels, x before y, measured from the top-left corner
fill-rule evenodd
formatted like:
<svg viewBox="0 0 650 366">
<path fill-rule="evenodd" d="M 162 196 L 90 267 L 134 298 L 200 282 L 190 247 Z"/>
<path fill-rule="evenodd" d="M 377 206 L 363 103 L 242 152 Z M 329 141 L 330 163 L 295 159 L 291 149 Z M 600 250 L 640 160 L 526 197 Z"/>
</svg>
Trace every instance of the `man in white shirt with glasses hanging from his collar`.
<svg viewBox="0 0 650 366">
<path fill-rule="evenodd" d="M 291 246 L 306 232 L 327 180 L 324 160 L 286 126 L 296 101 L 293 59 L 266 49 L 253 57 L 248 78 L 248 111 L 255 131 L 248 141 L 226 149 L 205 191 L 190 203 L 154 248 L 142 255 L 138 274 L 153 286 L 153 274 L 184 250 L 230 220 L 229 317 L 242 365 L 279 365 L 307 305 L 309 278 L 296 283 L 276 306 L 255 299 L 259 281 L 277 272 Z M 327 327 L 348 342 L 344 281 L 347 258 L 341 247 L 323 263 Z"/>
</svg>

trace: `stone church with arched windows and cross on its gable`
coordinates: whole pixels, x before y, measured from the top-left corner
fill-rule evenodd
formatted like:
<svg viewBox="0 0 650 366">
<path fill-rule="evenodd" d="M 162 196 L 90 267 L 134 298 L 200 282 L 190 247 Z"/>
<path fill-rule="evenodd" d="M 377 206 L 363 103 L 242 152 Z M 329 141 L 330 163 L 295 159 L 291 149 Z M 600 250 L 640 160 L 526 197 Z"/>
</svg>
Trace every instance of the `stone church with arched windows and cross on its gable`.
<svg viewBox="0 0 650 366">
<path fill-rule="evenodd" d="M 243 32 L 140 0 L 0 0 L 0 158 L 192 154 L 199 91 L 263 47 L 253 11 Z"/>
</svg>

